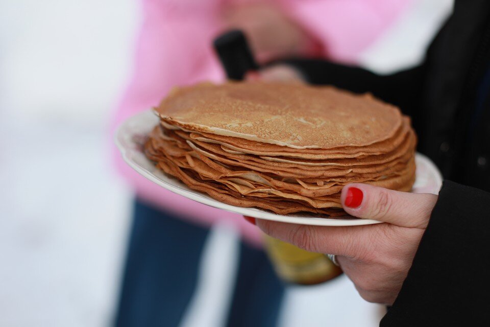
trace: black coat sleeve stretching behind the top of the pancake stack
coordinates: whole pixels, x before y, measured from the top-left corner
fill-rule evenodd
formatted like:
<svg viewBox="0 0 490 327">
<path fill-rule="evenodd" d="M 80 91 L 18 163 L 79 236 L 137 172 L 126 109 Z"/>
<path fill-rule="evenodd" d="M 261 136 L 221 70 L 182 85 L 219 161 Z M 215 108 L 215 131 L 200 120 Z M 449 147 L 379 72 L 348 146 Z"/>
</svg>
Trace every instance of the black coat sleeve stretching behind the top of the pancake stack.
<svg viewBox="0 0 490 327">
<path fill-rule="evenodd" d="M 425 65 L 391 75 L 377 75 L 366 69 L 325 60 L 289 59 L 282 63 L 297 68 L 311 84 L 331 84 L 356 93 L 371 92 L 416 119 L 420 108 Z"/>
</svg>

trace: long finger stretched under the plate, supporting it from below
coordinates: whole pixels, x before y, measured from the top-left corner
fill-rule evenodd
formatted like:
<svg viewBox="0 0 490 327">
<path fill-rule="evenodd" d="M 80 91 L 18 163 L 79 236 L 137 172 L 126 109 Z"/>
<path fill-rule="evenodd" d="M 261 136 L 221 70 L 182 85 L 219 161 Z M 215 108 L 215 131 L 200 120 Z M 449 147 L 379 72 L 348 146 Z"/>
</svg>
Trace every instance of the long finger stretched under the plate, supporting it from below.
<svg viewBox="0 0 490 327">
<path fill-rule="evenodd" d="M 257 219 L 256 225 L 267 235 L 307 251 L 350 258 L 357 256 L 359 249 L 366 247 L 364 242 L 368 238 L 365 234 L 370 229 L 370 226 L 310 226 L 264 219 Z"/>
</svg>

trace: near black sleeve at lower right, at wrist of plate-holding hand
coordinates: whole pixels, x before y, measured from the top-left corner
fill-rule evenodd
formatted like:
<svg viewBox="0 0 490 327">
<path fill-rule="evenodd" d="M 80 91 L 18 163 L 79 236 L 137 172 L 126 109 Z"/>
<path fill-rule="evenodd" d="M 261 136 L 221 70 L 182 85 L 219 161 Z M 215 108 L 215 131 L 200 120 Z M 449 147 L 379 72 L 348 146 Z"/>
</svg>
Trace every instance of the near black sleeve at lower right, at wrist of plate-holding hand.
<svg viewBox="0 0 490 327">
<path fill-rule="evenodd" d="M 490 326 L 490 193 L 445 181 L 381 327 Z"/>
</svg>

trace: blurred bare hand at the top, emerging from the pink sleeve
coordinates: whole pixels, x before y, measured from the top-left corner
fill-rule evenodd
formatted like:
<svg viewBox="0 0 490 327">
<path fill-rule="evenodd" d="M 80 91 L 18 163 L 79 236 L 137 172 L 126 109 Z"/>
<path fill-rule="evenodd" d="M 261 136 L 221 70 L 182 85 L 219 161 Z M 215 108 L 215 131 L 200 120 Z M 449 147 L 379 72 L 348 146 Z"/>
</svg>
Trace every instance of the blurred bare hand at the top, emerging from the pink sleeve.
<svg viewBox="0 0 490 327">
<path fill-rule="evenodd" d="M 222 13 L 222 19 L 226 29 L 244 31 L 260 63 L 318 52 L 319 46 L 313 37 L 273 3 L 230 5 Z"/>
</svg>

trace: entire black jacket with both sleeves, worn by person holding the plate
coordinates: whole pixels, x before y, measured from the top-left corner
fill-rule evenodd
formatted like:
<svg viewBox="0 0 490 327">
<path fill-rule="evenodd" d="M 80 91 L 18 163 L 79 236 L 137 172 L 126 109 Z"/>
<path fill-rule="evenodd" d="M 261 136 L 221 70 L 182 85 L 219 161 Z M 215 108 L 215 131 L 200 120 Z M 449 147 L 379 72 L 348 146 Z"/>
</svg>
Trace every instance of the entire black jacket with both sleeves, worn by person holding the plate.
<svg viewBox="0 0 490 327">
<path fill-rule="evenodd" d="M 412 116 L 418 151 L 447 179 L 381 326 L 490 326 L 490 1 L 456 0 L 424 63 L 408 71 L 378 76 L 320 60 L 287 62 L 311 83 L 400 106 Z"/>
</svg>

